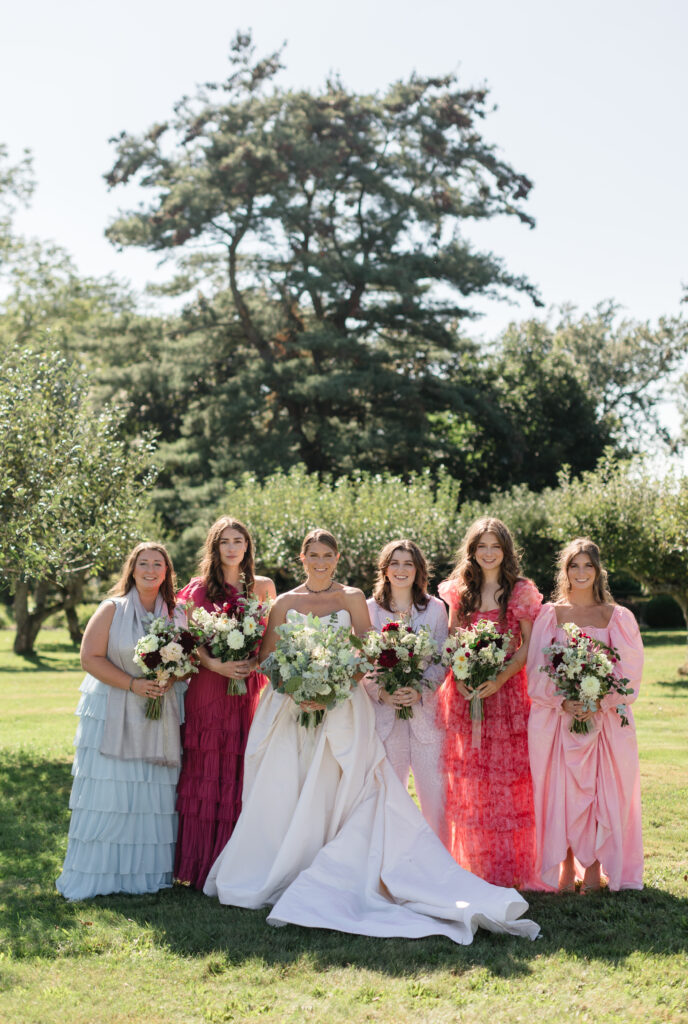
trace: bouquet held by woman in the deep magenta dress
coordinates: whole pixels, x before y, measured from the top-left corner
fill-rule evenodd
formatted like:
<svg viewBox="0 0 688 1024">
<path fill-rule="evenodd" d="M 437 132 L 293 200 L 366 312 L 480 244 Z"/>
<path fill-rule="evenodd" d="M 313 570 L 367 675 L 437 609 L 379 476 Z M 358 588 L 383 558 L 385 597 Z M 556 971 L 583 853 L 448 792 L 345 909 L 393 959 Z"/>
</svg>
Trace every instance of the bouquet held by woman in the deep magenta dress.
<svg viewBox="0 0 688 1024">
<path fill-rule="evenodd" d="M 203 643 L 221 662 L 244 662 L 253 657 L 260 647 L 267 625 L 269 602 L 257 597 L 233 595 L 215 611 L 197 608 L 193 622 L 203 631 Z M 246 693 L 243 679 L 228 679 L 227 693 Z"/>
</svg>

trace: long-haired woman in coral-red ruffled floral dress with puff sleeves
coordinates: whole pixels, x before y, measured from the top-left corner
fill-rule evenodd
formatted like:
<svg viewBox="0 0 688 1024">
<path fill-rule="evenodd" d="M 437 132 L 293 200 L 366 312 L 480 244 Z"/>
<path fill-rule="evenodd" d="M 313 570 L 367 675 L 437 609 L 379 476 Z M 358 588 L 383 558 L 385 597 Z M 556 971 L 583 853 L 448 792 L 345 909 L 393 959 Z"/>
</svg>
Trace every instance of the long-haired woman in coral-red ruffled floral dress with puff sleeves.
<svg viewBox="0 0 688 1024">
<path fill-rule="evenodd" d="M 439 585 L 439 594 L 449 606 L 451 631 L 487 618 L 513 636 L 511 658 L 477 690 L 485 716 L 480 746 L 472 741 L 471 693 L 465 684 L 450 676 L 438 694 L 446 786 L 442 838 L 462 867 L 487 882 L 540 888 L 524 666 L 542 595 L 520 575 L 507 526 L 489 517 L 469 528 L 457 567 Z"/>
</svg>

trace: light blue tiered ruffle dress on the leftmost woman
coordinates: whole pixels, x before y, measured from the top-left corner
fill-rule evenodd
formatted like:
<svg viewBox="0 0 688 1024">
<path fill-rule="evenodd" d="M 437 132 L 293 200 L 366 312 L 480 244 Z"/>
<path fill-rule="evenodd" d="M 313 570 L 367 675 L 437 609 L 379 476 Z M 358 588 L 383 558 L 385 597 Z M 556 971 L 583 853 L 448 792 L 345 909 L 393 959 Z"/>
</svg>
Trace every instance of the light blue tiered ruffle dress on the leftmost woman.
<svg viewBox="0 0 688 1024">
<path fill-rule="evenodd" d="M 185 687 L 185 682 L 177 682 L 165 697 L 178 701 L 181 720 Z M 80 687 L 72 821 L 56 882 L 57 890 L 70 900 L 119 892 L 153 893 L 172 885 L 179 766 L 100 753 L 111 689 L 91 675 Z M 131 693 L 127 698 L 144 708 L 144 697 Z"/>
</svg>

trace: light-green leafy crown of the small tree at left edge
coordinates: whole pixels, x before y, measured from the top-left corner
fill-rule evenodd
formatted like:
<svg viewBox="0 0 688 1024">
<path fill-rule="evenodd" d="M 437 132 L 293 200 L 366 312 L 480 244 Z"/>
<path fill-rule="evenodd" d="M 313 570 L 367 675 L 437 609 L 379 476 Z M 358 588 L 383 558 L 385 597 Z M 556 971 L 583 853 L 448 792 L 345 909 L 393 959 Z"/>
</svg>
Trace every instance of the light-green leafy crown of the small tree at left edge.
<svg viewBox="0 0 688 1024">
<path fill-rule="evenodd" d="M 149 445 L 94 413 L 87 381 L 57 352 L 4 352 L 0 380 L 0 577 L 14 591 L 14 650 L 75 608 L 89 575 L 112 571 L 139 529 Z"/>
</svg>

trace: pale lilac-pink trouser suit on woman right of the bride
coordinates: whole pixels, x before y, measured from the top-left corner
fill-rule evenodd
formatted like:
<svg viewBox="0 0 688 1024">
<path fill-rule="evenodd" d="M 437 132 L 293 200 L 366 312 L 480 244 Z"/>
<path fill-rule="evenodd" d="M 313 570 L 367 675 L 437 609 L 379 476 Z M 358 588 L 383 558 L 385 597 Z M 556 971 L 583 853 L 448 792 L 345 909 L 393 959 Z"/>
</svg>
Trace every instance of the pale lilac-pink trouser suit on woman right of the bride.
<svg viewBox="0 0 688 1024">
<path fill-rule="evenodd" d="M 395 622 L 398 615 L 388 611 L 373 598 L 368 602 L 373 629 L 380 632 L 387 623 Z M 422 626 L 432 633 L 441 651 L 446 640 L 448 624 L 446 610 L 436 597 L 428 597 L 425 608 L 413 607 L 408 625 L 416 632 Z M 430 666 L 424 678 L 428 689 L 423 690 L 422 700 L 414 705 L 414 716 L 410 719 L 396 717 L 394 708 L 380 703 L 378 700 L 378 684 L 367 678 L 365 689 L 373 700 L 375 709 L 375 727 L 385 744 L 387 758 L 403 783 L 408 784 L 408 773 L 414 773 L 416 792 L 421 802 L 423 817 L 430 827 L 439 835 L 444 820 L 444 801 L 442 777 L 439 769 L 439 758 L 442 751 L 442 733 L 435 723 L 437 693 L 436 687 L 444 680 L 444 669 L 441 666 Z"/>
</svg>

